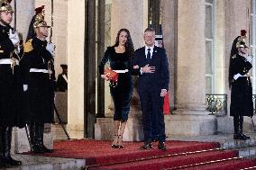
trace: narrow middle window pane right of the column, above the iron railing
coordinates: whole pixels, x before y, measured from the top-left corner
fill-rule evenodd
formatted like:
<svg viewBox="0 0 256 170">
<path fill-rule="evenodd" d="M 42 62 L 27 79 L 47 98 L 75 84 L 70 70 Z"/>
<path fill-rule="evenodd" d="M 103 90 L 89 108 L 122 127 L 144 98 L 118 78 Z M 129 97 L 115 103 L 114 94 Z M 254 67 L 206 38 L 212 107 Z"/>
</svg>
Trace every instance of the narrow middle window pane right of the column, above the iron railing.
<svg viewBox="0 0 256 170">
<path fill-rule="evenodd" d="M 213 74 L 213 41 L 206 40 L 206 74 Z"/>
</svg>

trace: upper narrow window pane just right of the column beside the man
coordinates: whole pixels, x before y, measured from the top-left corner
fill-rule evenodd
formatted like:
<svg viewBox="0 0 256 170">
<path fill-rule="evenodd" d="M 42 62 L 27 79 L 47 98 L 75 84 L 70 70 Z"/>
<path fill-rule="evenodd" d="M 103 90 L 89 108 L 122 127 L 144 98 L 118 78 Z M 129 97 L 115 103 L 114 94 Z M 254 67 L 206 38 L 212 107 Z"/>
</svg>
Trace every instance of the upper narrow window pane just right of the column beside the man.
<svg viewBox="0 0 256 170">
<path fill-rule="evenodd" d="M 206 39 L 213 39 L 213 6 L 206 4 Z"/>
</svg>

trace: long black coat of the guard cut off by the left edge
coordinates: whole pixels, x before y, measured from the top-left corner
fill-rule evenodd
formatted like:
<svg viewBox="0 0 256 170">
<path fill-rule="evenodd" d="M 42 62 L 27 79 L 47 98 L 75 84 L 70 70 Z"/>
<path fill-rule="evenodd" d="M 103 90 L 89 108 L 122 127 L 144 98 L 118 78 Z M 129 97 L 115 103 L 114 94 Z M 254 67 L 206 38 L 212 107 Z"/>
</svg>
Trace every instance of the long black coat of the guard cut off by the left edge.
<svg viewBox="0 0 256 170">
<path fill-rule="evenodd" d="M 0 126 L 24 127 L 23 85 L 19 57 L 14 53 L 14 44 L 9 39 L 10 26 L 0 25 Z M 15 58 L 16 65 L 12 68 L 6 61 Z"/>
</svg>

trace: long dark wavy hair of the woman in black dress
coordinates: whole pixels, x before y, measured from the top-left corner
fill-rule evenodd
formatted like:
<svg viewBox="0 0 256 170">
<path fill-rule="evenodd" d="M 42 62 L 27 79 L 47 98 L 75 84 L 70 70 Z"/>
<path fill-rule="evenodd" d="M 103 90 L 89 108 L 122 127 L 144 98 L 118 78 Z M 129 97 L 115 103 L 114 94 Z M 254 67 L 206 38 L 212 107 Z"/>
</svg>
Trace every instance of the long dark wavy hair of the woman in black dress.
<svg viewBox="0 0 256 170">
<path fill-rule="evenodd" d="M 133 57 L 133 52 L 134 52 L 134 48 L 133 48 L 133 40 L 131 38 L 131 35 L 130 35 L 130 31 L 128 31 L 127 29 L 120 29 L 118 32 L 117 32 L 117 35 L 116 35 L 116 39 L 115 39 L 115 43 L 114 43 L 114 47 L 117 47 L 118 44 L 119 44 L 119 36 L 120 36 L 120 33 L 121 31 L 125 31 L 127 33 L 127 40 L 125 42 L 125 51 L 128 53 L 129 57 L 132 58 Z"/>
</svg>

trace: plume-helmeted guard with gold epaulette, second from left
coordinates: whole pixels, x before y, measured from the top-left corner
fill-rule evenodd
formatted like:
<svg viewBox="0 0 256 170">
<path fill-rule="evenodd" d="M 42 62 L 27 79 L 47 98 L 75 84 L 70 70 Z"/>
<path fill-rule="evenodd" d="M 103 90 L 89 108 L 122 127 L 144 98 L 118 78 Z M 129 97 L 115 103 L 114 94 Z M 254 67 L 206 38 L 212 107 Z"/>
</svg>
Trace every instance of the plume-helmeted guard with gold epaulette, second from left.
<svg viewBox="0 0 256 170">
<path fill-rule="evenodd" d="M 24 44 L 21 62 L 23 91 L 28 96 L 32 151 L 53 152 L 53 149 L 43 145 L 43 130 L 44 123 L 52 123 L 54 120 L 55 46 L 46 40 L 50 26 L 44 21 L 44 15 L 36 14 L 32 22 L 35 36 Z"/>
</svg>

